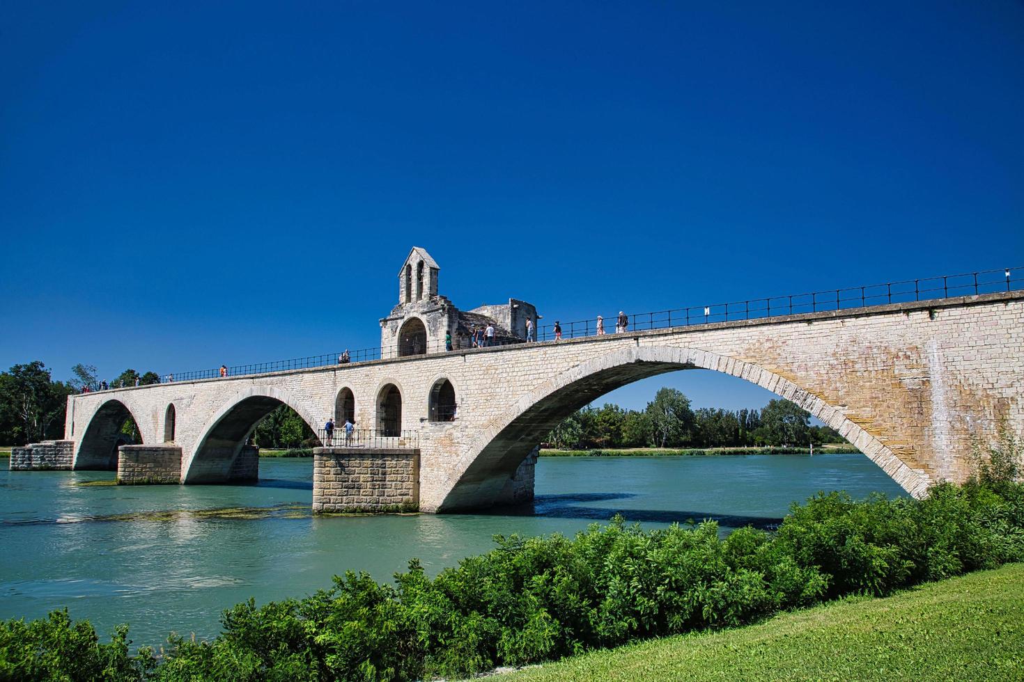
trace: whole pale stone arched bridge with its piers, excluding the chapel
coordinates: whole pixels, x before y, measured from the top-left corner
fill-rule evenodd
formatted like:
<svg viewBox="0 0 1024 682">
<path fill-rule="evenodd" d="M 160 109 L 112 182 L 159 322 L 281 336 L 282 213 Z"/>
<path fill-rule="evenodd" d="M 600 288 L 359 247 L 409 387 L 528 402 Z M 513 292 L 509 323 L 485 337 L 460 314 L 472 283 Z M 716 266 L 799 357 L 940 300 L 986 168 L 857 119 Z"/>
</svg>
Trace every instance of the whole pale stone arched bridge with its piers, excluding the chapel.
<svg viewBox="0 0 1024 682">
<path fill-rule="evenodd" d="M 792 400 L 920 497 L 969 475 L 974 441 L 1024 429 L 1022 349 L 1024 292 L 1008 291 L 82 394 L 69 398 L 66 441 L 34 447 L 63 448 L 76 469 L 226 483 L 255 476 L 246 441 L 279 405 L 314 430 L 344 412 L 408 442 L 318 449 L 316 510 L 463 510 L 531 497 L 535 448 L 574 410 L 699 368 Z M 438 421 L 442 399 L 458 410 Z M 142 443 L 119 448 L 129 414 Z"/>
</svg>

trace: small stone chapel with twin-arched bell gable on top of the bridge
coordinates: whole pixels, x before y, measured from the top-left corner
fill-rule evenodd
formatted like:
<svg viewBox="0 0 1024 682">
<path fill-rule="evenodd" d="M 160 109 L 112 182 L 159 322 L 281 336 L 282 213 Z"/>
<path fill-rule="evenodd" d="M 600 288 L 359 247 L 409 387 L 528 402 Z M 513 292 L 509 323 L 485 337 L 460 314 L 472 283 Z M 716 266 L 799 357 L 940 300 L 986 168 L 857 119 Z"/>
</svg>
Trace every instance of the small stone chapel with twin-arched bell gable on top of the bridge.
<svg viewBox="0 0 1024 682">
<path fill-rule="evenodd" d="M 398 305 L 381 319 L 381 357 L 393 358 L 444 351 L 444 335 L 452 334 L 453 350 L 473 347 L 474 328 L 495 327 L 497 344 L 526 342 L 526 318 L 537 329 L 537 308 L 525 301 L 480 306 L 464 312 L 439 294 L 440 266 L 421 246 L 413 246 L 398 270 Z"/>
</svg>

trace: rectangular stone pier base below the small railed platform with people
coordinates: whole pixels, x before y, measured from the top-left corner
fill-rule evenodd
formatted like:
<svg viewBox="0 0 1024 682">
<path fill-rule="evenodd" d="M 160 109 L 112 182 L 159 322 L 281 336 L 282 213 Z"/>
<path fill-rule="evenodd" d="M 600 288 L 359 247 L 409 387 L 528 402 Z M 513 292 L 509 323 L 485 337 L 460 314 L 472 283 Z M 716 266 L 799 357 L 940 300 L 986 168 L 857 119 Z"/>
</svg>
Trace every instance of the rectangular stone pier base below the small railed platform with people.
<svg viewBox="0 0 1024 682">
<path fill-rule="evenodd" d="M 313 449 L 313 512 L 413 511 L 420 504 L 420 451 Z"/>
</svg>

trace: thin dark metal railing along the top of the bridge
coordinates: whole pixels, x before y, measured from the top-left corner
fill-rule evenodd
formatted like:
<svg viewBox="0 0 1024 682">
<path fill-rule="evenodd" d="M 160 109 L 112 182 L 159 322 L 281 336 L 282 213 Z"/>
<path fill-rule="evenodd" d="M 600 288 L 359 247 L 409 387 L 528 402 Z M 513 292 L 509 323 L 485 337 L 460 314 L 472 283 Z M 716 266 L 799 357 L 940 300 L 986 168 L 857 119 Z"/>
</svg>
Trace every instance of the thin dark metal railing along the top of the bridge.
<svg viewBox="0 0 1024 682">
<path fill-rule="evenodd" d="M 1004 268 L 1001 270 L 982 270 L 959 275 L 943 275 L 924 279 L 906 279 L 884 284 L 870 284 L 843 289 L 811 291 L 788 295 L 769 297 L 767 299 L 750 299 L 732 303 L 711 304 L 676 308 L 652 313 L 626 315 L 625 330 L 647 331 L 650 329 L 667 329 L 671 327 L 693 326 L 711 322 L 728 322 L 733 320 L 754 320 L 781 315 L 798 315 L 801 313 L 817 313 L 833 310 L 849 310 L 866 308 L 894 303 L 936 301 L 962 295 L 978 295 L 998 291 L 1016 291 L 1024 289 L 1024 268 Z M 604 317 L 603 329 L 598 325 L 597 318 L 575 320 L 560 324 L 560 338 L 581 338 L 603 333 L 616 333 L 618 315 Z M 556 339 L 555 325 L 545 324 L 535 329 L 536 340 L 539 343 Z M 483 348 L 523 344 L 522 338 L 498 338 Z M 463 351 L 476 348 L 476 344 L 468 337 L 453 339 L 452 351 Z M 414 348 L 414 350 L 417 350 Z M 210 379 L 218 376 L 240 376 L 247 374 L 265 374 L 268 372 L 288 371 L 291 369 L 311 369 L 331 365 L 368 362 L 371 360 L 391 360 L 409 355 L 425 355 L 444 353 L 449 351 L 443 342 L 424 342 L 419 348 L 420 353 L 403 354 L 398 349 L 389 349 L 382 353 L 379 347 L 344 351 L 343 353 L 326 353 L 305 358 L 278 360 L 248 365 L 232 365 L 222 368 L 200 369 L 186 372 L 173 372 L 161 376 L 161 382 L 190 381 Z"/>
</svg>

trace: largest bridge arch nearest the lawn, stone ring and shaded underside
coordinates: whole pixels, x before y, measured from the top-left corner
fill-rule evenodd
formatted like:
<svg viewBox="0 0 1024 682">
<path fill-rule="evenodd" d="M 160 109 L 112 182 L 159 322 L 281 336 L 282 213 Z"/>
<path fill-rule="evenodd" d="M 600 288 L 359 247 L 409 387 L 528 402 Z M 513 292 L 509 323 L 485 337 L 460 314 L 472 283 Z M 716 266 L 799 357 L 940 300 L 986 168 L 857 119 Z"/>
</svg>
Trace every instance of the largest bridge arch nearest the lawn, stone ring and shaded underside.
<svg viewBox="0 0 1024 682">
<path fill-rule="evenodd" d="M 836 407 L 757 364 L 692 348 L 629 347 L 565 370 L 521 398 L 482 429 L 455 465 L 455 485 L 436 509 L 488 506 L 538 443 L 562 419 L 604 394 L 640 379 L 680 369 L 711 369 L 757 383 L 818 417 L 907 492 L 924 497 L 932 481 L 899 459 L 877 437 Z"/>
</svg>

